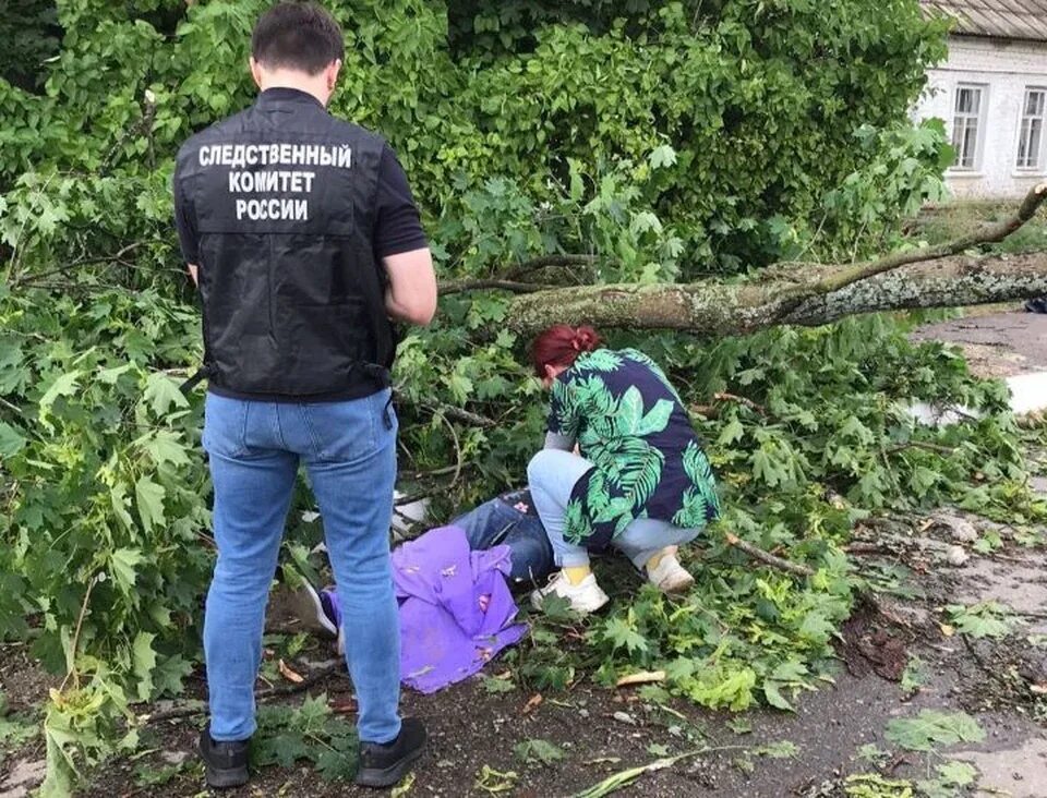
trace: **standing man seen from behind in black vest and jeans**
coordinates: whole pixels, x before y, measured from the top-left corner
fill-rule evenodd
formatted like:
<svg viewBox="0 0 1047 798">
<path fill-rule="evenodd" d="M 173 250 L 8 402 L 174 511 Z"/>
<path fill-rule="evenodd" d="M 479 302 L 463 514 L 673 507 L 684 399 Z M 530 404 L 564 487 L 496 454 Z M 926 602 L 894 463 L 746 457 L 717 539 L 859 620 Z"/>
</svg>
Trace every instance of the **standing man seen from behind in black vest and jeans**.
<svg viewBox="0 0 1047 798">
<path fill-rule="evenodd" d="M 422 724 L 398 714 L 390 319 L 429 324 L 436 279 L 396 157 L 326 111 L 345 55 L 337 23 L 280 3 L 251 47 L 256 102 L 190 138 L 174 171 L 179 238 L 203 298 L 218 546 L 200 750 L 208 785 L 246 782 L 266 600 L 303 462 L 360 705 L 357 782 L 388 786 L 425 743 Z"/>
</svg>

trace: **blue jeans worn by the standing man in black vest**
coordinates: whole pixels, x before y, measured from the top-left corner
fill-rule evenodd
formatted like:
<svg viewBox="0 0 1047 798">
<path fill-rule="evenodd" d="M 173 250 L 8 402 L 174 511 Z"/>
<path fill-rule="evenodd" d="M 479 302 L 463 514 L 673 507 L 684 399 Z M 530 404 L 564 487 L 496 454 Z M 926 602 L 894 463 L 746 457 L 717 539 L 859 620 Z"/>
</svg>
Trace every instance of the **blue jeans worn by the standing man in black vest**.
<svg viewBox="0 0 1047 798">
<path fill-rule="evenodd" d="M 272 403 L 207 395 L 203 443 L 218 559 L 204 656 L 215 740 L 243 740 L 256 727 L 265 607 L 300 461 L 338 580 L 360 740 L 388 742 L 399 734 L 400 632 L 389 557 L 396 419 L 388 397 L 383 390 L 342 402 Z"/>
</svg>

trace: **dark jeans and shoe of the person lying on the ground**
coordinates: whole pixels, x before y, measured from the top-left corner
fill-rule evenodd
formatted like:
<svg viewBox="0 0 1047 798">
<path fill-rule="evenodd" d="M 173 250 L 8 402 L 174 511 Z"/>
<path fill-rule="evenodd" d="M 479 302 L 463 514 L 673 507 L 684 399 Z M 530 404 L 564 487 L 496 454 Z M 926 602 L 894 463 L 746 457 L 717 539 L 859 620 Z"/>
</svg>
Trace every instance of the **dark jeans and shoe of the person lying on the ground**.
<svg viewBox="0 0 1047 798">
<path fill-rule="evenodd" d="M 527 489 L 503 493 L 455 518 L 449 525 L 466 533 L 469 547 L 474 552 L 497 545 L 508 546 L 512 584 L 535 584 L 553 570 L 553 549 Z M 303 579 L 293 608 L 303 628 L 337 639 L 338 653 L 345 651 L 341 605 L 336 587 L 320 589 Z"/>
</svg>

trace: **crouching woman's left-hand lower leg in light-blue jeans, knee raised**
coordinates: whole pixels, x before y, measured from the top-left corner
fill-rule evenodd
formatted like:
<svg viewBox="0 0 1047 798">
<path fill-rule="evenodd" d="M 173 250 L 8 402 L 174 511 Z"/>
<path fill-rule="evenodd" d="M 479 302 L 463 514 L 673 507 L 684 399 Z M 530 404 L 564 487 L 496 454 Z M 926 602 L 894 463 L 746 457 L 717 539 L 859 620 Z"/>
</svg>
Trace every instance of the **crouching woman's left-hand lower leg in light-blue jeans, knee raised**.
<svg viewBox="0 0 1047 798">
<path fill-rule="evenodd" d="M 562 568 L 589 565 L 589 553 L 564 540 L 564 513 L 570 492 L 593 466 L 582 457 L 561 449 L 542 449 L 527 467 L 531 499 L 553 546 L 553 558 Z"/>
</svg>

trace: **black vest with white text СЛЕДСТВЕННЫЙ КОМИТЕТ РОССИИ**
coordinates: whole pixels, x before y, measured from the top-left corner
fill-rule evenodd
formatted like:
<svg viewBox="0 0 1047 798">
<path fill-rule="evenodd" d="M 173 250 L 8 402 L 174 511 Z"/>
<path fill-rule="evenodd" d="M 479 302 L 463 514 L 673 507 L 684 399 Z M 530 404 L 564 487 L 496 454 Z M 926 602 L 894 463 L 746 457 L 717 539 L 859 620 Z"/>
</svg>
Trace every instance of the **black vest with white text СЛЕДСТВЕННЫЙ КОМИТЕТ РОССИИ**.
<svg viewBox="0 0 1047 798">
<path fill-rule="evenodd" d="M 277 88 L 179 150 L 212 390 L 326 401 L 389 384 L 395 342 L 372 246 L 384 146 Z"/>
</svg>

